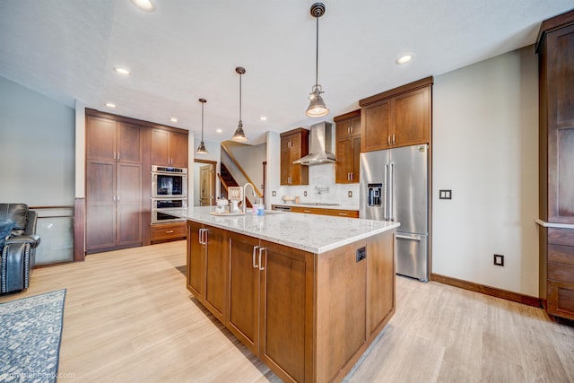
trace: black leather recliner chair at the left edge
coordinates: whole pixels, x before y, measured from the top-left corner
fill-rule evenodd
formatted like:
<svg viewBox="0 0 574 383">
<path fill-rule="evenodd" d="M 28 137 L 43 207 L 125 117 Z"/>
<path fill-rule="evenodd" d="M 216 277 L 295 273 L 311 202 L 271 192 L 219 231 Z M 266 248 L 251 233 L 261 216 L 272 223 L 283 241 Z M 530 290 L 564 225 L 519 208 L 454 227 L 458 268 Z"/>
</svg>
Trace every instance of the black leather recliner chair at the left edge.
<svg viewBox="0 0 574 383">
<path fill-rule="evenodd" d="M 0 293 L 27 289 L 40 242 L 36 235 L 37 213 L 24 204 L 0 204 L 0 221 L 13 222 L 13 230 L 2 245 Z"/>
</svg>

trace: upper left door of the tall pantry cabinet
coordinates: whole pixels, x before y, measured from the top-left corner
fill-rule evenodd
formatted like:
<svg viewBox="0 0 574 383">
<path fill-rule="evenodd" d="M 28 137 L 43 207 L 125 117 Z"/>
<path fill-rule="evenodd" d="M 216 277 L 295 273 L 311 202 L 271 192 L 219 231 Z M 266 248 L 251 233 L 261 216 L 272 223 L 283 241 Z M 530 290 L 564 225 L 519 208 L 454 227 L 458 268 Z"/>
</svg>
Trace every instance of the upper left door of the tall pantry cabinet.
<svg viewBox="0 0 574 383">
<path fill-rule="evenodd" d="M 116 160 L 116 121 L 106 118 L 86 118 L 86 159 Z"/>
</svg>

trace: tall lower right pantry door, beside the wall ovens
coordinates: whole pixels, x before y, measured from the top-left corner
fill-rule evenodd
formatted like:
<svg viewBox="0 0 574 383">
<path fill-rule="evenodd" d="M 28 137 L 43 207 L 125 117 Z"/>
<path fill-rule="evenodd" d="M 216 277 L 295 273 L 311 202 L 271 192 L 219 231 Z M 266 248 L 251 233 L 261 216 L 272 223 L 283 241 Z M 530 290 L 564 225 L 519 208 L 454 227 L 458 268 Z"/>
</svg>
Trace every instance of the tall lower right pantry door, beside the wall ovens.
<svg viewBox="0 0 574 383">
<path fill-rule="evenodd" d="M 117 162 L 117 246 L 142 244 L 142 165 Z"/>
</svg>

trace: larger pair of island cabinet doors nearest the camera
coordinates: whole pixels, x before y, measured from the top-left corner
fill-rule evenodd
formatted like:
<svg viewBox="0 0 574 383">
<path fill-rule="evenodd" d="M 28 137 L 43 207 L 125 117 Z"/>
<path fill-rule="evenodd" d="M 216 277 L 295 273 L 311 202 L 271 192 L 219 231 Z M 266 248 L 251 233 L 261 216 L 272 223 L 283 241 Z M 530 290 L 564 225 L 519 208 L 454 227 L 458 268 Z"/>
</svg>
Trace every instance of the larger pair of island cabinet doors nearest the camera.
<svg viewBox="0 0 574 383">
<path fill-rule="evenodd" d="M 313 254 L 230 233 L 227 326 L 286 381 L 312 377 Z"/>
</svg>

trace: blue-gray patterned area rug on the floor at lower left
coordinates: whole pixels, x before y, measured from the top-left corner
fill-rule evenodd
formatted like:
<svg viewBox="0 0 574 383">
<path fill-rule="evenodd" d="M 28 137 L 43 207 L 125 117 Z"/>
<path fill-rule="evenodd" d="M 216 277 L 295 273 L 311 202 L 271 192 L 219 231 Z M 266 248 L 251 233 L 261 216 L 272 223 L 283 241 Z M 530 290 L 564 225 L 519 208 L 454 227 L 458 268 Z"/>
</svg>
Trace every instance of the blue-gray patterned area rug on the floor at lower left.
<svg viewBox="0 0 574 383">
<path fill-rule="evenodd" d="M 65 289 L 0 304 L 0 382 L 55 382 Z"/>
</svg>

